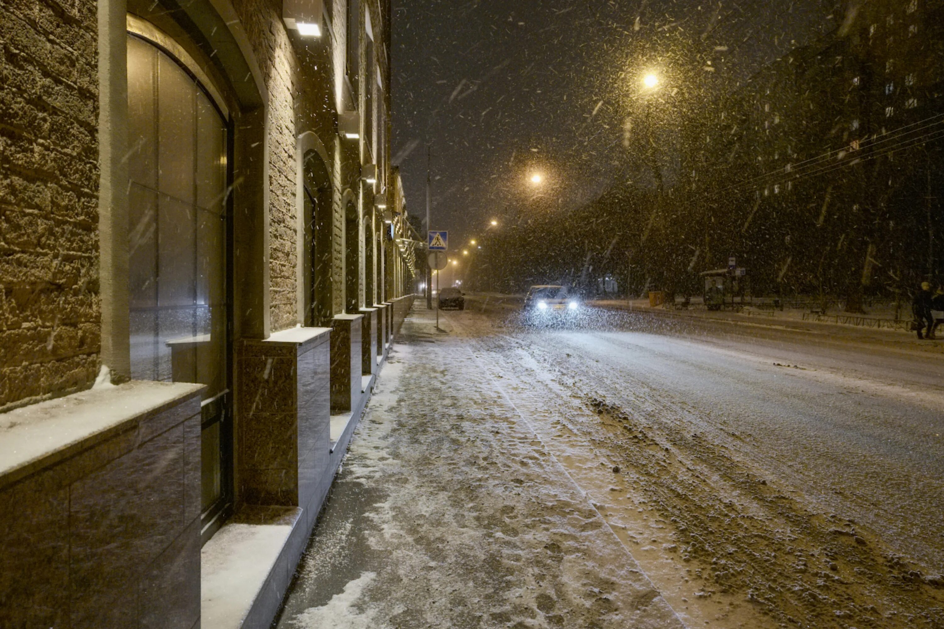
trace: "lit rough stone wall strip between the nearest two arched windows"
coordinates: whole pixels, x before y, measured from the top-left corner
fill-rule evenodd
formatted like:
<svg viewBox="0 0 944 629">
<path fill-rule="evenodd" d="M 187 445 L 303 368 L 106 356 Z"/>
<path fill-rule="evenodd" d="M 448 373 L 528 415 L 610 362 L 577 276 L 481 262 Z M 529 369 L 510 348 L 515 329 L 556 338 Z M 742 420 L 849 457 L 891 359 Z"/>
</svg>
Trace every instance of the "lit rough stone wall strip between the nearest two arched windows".
<svg viewBox="0 0 944 629">
<path fill-rule="evenodd" d="M 295 73 L 298 60 L 280 3 L 234 3 L 269 92 L 269 273 L 272 330 L 297 321 L 295 298 Z"/>
</svg>

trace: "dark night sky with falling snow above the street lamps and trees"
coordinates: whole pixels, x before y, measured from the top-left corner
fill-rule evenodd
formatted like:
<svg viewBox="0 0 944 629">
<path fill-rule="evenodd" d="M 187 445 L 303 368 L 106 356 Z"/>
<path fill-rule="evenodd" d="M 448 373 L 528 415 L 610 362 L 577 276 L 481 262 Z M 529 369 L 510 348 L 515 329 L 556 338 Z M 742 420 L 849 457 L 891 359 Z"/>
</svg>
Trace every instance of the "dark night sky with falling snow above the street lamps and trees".
<svg viewBox="0 0 944 629">
<path fill-rule="evenodd" d="M 655 70 L 664 89 L 710 99 L 706 85 L 732 89 L 841 23 L 835 4 L 394 0 L 393 154 L 408 210 L 425 217 L 428 143 L 432 227 L 453 239 L 537 198 L 558 211 L 590 201 L 624 176 L 627 86 Z"/>
</svg>

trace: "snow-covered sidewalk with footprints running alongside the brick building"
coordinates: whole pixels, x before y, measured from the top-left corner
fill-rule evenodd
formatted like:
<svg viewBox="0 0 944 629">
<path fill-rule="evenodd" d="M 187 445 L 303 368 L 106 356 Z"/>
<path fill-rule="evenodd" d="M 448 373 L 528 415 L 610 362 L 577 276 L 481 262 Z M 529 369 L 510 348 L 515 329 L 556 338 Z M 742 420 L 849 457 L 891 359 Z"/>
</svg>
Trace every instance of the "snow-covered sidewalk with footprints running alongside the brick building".
<svg viewBox="0 0 944 629">
<path fill-rule="evenodd" d="M 278 626 L 683 626 L 464 340 L 402 339 Z"/>
</svg>

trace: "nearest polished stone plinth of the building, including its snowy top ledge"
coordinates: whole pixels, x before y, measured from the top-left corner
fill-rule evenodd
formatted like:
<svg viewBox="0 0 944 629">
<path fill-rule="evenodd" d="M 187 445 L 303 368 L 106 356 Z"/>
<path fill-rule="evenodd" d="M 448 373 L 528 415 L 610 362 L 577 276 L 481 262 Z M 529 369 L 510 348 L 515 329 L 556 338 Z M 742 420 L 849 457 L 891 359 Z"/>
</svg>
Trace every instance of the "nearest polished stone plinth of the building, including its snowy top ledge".
<svg viewBox="0 0 944 629">
<path fill-rule="evenodd" d="M 200 623 L 200 385 L 0 415 L 0 626 Z"/>
</svg>

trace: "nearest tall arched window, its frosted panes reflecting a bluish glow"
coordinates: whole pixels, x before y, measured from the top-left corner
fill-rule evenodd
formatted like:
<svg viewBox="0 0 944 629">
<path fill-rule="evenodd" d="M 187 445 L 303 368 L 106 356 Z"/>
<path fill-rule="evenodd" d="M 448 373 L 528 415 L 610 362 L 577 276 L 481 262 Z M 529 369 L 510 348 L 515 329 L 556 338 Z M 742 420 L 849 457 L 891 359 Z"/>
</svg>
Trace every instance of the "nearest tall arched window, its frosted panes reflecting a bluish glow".
<svg viewBox="0 0 944 629">
<path fill-rule="evenodd" d="M 131 376 L 207 385 L 203 511 L 231 495 L 227 420 L 228 123 L 159 46 L 127 39 Z"/>
</svg>

